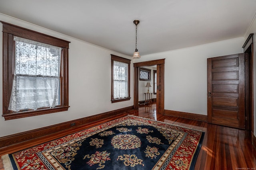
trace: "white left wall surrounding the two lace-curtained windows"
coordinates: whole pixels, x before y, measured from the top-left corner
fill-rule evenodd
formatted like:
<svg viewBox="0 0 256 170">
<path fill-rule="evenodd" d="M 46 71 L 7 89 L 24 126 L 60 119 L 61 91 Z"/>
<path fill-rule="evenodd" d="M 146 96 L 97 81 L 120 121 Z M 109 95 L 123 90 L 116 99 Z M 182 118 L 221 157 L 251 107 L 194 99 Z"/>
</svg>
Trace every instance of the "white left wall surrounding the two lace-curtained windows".
<svg viewBox="0 0 256 170">
<path fill-rule="evenodd" d="M 0 20 L 60 39 L 70 41 L 69 45 L 69 105 L 68 111 L 38 115 L 5 121 L 0 117 L 0 137 L 46 127 L 98 113 L 104 113 L 123 107 L 133 106 L 133 64 L 131 61 L 130 101 L 111 103 L 111 57 L 118 55 L 127 59 L 129 56 L 98 47 L 56 33 L 54 31 L 26 23 L 0 14 Z M 0 66 L 2 66 L 2 24 L 0 24 Z M 0 89 L 2 89 L 2 69 L 0 69 Z M 2 90 L 0 90 L 0 111 L 2 113 Z M 2 114 L 1 114 L 2 115 Z"/>
</svg>

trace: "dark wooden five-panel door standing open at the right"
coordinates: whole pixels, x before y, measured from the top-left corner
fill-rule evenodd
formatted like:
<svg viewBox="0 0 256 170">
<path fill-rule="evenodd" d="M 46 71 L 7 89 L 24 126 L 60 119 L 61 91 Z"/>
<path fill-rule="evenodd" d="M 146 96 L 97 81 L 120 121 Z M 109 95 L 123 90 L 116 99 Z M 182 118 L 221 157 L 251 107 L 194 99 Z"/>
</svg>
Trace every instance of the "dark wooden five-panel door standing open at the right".
<svg viewBox="0 0 256 170">
<path fill-rule="evenodd" d="M 207 59 L 208 123 L 245 128 L 244 53 Z"/>
</svg>

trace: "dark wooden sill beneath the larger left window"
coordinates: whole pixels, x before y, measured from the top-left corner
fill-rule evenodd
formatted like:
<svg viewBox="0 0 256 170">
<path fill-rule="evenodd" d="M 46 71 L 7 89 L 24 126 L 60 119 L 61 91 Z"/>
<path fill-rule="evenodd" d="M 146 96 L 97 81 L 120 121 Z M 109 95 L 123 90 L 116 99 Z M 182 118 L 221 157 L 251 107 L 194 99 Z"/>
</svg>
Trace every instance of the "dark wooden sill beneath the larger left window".
<svg viewBox="0 0 256 170">
<path fill-rule="evenodd" d="M 11 119 L 18 119 L 18 118 L 22 118 L 22 117 L 30 117 L 30 116 L 44 115 L 44 114 L 55 113 L 55 112 L 60 112 L 60 111 L 67 111 L 68 107 L 70 107 L 70 106 L 62 106 L 62 107 L 54 107 L 54 108 L 47 108 L 47 109 L 40 109 L 40 110 L 8 113 L 8 114 L 4 114 L 2 116 L 4 117 L 4 120 L 11 120 Z"/>
</svg>

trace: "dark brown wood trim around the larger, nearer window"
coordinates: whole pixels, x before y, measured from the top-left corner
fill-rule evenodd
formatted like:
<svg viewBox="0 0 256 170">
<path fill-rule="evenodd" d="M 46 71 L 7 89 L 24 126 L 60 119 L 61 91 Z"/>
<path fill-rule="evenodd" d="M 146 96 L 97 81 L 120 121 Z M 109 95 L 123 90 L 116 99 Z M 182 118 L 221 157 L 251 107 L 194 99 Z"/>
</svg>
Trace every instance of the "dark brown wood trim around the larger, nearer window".
<svg viewBox="0 0 256 170">
<path fill-rule="evenodd" d="M 50 35 L 39 33 L 30 29 L 19 27 L 4 21 L 0 21 L 3 26 L 3 114 L 5 120 L 18 119 L 35 115 L 55 113 L 68 110 L 68 48 L 69 41 L 62 40 Z M 14 112 L 8 110 L 12 83 L 14 77 L 14 36 L 38 41 L 62 48 L 60 66 L 60 106 L 54 108 L 43 108 L 32 111 Z"/>
</svg>

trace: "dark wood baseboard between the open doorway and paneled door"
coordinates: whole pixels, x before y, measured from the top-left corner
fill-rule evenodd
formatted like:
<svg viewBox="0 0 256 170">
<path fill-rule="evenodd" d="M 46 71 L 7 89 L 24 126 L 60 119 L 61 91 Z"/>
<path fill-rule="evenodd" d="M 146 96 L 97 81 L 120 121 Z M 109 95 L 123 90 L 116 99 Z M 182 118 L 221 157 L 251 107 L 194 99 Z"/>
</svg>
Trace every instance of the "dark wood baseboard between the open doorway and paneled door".
<svg viewBox="0 0 256 170">
<path fill-rule="evenodd" d="M 207 115 L 200 115 L 200 114 L 196 114 L 196 113 L 186 113 L 186 112 L 182 112 L 182 111 L 164 110 L 164 115 L 207 122 Z"/>
</svg>

